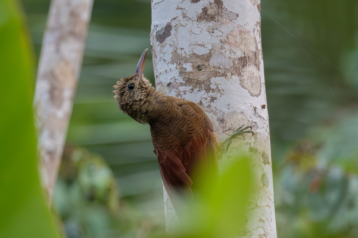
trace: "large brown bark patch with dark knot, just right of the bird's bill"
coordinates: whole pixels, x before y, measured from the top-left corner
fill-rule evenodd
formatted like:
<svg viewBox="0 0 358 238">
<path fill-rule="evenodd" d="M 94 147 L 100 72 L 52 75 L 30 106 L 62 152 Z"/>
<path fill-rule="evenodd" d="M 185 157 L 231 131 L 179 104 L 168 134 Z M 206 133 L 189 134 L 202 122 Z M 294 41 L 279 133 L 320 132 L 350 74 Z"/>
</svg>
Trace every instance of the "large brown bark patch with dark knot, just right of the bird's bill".
<svg viewBox="0 0 358 238">
<path fill-rule="evenodd" d="M 190 86 L 190 93 L 193 93 L 194 91 L 204 91 L 205 93 L 213 92 L 218 96 L 224 95 L 224 91 L 222 89 L 219 89 L 218 86 L 212 86 L 211 79 L 213 77 L 226 77 L 227 73 L 223 72 L 223 69 L 209 64 L 211 56 L 211 52 L 203 55 L 193 53 L 183 56 L 174 50 L 171 54 L 170 63 L 176 65 L 176 69 L 179 70 L 179 76 L 184 82 L 175 82 L 172 83 L 171 86 L 174 88 L 178 88 L 180 86 Z M 184 62 L 186 64 L 191 63 L 192 69 L 187 70 L 187 68 L 183 66 Z M 183 91 L 181 93 L 182 95 L 185 95 L 187 92 Z M 176 96 L 182 97 L 182 95 Z M 210 97 L 209 100 L 210 102 L 214 102 L 217 100 L 217 96 Z"/>
</svg>

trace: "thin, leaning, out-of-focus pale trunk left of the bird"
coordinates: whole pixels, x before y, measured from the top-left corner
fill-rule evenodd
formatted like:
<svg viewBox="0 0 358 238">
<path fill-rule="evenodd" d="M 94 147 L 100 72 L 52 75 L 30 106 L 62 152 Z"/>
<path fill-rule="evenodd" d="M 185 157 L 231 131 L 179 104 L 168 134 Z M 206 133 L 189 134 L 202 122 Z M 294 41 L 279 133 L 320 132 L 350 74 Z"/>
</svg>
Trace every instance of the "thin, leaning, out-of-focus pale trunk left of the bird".
<svg viewBox="0 0 358 238">
<path fill-rule="evenodd" d="M 37 73 L 34 107 L 39 169 L 49 204 L 81 70 L 93 0 L 52 0 Z"/>
</svg>

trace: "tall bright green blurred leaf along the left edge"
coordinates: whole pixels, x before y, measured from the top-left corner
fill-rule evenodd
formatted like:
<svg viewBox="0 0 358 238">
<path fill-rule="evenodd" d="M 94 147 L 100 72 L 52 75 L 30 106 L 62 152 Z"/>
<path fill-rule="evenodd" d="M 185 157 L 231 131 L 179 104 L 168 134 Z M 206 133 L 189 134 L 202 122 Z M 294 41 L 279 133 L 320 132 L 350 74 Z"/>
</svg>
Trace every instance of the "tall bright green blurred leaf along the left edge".
<svg viewBox="0 0 358 238">
<path fill-rule="evenodd" d="M 59 237 L 36 156 L 34 57 L 18 2 L 0 1 L 0 237 Z"/>
</svg>

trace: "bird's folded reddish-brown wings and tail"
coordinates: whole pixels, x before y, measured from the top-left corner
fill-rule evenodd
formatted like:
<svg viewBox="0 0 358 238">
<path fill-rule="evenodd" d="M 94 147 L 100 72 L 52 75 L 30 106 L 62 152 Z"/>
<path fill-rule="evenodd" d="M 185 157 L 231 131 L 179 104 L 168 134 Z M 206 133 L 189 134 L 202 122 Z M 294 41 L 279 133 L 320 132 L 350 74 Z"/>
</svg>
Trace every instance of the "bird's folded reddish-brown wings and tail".
<svg viewBox="0 0 358 238">
<path fill-rule="evenodd" d="M 183 100 L 170 113 L 174 128 L 163 128 L 161 135 L 152 133 L 152 137 L 164 186 L 173 206 L 178 207 L 182 197 L 190 199 L 193 190 L 195 194 L 196 172 L 217 176 L 219 147 L 212 123 L 198 105 Z"/>
</svg>

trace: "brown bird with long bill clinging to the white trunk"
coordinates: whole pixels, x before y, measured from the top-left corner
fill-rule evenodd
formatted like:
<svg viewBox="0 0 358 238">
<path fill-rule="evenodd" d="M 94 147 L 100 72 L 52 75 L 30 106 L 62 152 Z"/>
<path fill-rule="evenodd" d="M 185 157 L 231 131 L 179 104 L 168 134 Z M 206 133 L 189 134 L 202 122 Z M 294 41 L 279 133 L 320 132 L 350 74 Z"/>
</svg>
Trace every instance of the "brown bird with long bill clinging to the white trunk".
<svg viewBox="0 0 358 238">
<path fill-rule="evenodd" d="M 144 77 L 147 50 L 134 75 L 120 78 L 113 92 L 122 112 L 139 123 L 149 124 L 161 178 L 178 214 L 183 203 L 198 194 L 197 173 L 204 176 L 201 179 L 218 177 L 223 143 L 252 131 L 245 131 L 251 127 L 240 127 L 233 136 L 219 142 L 212 122 L 197 103 L 157 91 Z"/>
</svg>

